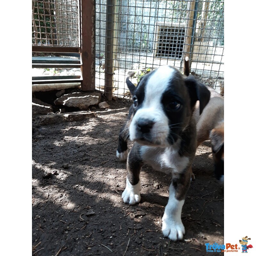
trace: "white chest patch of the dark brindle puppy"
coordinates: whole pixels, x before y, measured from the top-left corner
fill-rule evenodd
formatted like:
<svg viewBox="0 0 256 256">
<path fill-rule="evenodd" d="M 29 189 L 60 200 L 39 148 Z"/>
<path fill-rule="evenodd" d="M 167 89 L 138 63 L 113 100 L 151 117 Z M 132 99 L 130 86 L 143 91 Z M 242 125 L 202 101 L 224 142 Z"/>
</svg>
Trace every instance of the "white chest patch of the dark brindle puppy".
<svg viewBox="0 0 256 256">
<path fill-rule="evenodd" d="M 144 164 L 165 173 L 182 172 L 189 162 L 188 157 L 180 156 L 178 150 L 173 148 L 142 146 L 140 153 Z"/>
</svg>

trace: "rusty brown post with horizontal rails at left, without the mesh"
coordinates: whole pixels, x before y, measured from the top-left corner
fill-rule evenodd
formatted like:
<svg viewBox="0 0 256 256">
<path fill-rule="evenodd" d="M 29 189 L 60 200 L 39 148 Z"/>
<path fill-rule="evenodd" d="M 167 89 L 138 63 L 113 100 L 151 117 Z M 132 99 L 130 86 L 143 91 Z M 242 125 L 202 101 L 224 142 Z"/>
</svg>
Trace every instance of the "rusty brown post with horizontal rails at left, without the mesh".
<svg viewBox="0 0 256 256">
<path fill-rule="evenodd" d="M 32 68 L 81 68 L 81 77 L 72 79 L 32 79 L 32 84 L 81 82 L 82 91 L 95 90 L 95 0 L 78 1 L 80 11 L 80 47 L 37 46 L 32 52 L 80 53 L 80 64 L 33 63 Z"/>
</svg>

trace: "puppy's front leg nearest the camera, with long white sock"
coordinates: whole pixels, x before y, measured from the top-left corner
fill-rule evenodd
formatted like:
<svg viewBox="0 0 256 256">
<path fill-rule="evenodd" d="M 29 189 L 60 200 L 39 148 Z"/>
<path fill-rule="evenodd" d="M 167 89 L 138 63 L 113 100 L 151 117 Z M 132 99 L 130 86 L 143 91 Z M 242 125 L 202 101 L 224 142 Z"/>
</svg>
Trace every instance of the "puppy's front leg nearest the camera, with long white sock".
<svg viewBox="0 0 256 256">
<path fill-rule="evenodd" d="M 162 231 L 164 236 L 174 241 L 181 240 L 185 234 L 181 221 L 181 209 L 190 185 L 190 177 L 189 171 L 173 174 L 169 188 L 169 200 L 164 210 Z"/>
</svg>

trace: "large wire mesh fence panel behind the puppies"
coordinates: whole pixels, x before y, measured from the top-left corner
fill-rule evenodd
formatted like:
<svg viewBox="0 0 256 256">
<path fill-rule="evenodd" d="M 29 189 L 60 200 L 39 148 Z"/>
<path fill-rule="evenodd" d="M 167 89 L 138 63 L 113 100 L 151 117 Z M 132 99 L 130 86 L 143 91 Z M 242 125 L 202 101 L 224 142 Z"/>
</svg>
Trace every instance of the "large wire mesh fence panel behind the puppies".
<svg viewBox="0 0 256 256">
<path fill-rule="evenodd" d="M 136 85 L 151 70 L 171 65 L 182 71 L 190 57 L 191 73 L 223 93 L 223 0 L 96 0 L 96 88 L 104 89 L 106 19 L 113 15 L 113 86 L 119 97 L 130 97 L 125 79 Z"/>
</svg>

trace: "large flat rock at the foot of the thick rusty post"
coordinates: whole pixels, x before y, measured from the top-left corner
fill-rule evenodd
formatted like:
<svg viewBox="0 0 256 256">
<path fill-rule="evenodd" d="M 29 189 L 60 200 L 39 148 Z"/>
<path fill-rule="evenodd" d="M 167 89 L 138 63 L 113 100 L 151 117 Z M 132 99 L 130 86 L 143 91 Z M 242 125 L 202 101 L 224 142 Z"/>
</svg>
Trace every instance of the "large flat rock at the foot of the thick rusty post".
<svg viewBox="0 0 256 256">
<path fill-rule="evenodd" d="M 55 105 L 88 109 L 91 105 L 100 103 L 100 92 L 72 92 L 54 100 Z"/>
</svg>

